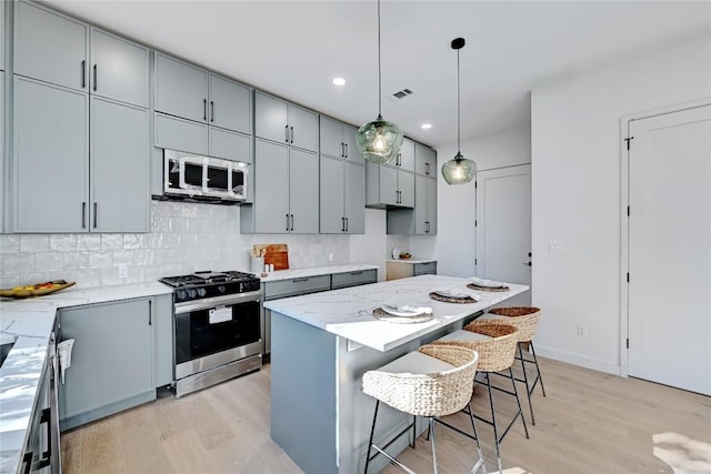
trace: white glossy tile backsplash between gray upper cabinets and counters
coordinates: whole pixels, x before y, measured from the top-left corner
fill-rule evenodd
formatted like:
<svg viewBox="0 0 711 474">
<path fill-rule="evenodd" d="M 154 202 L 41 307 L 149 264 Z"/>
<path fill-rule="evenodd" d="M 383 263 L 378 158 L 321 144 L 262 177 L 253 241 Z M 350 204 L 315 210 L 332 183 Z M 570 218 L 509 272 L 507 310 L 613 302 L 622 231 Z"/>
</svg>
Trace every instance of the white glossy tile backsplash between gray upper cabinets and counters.
<svg viewBox="0 0 711 474">
<path fill-rule="evenodd" d="M 151 232 L 101 234 L 0 235 L 0 288 L 47 280 L 76 281 L 80 288 L 156 281 L 198 270 L 249 271 L 249 250 L 256 243 L 286 243 L 292 268 L 339 263 L 382 264 L 388 248 L 407 248 L 407 236 L 374 233 L 349 236 L 329 234 L 241 234 L 238 205 L 151 202 Z M 383 211 L 377 220 L 384 220 Z M 370 231 L 369 231 L 370 232 Z M 367 241 L 370 252 L 353 255 L 350 239 Z M 373 252 L 377 249 L 377 252 Z M 333 261 L 329 262 L 329 253 Z M 119 276 L 122 266 L 126 278 Z"/>
</svg>

